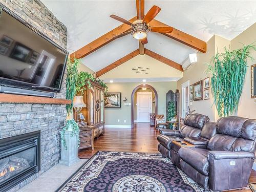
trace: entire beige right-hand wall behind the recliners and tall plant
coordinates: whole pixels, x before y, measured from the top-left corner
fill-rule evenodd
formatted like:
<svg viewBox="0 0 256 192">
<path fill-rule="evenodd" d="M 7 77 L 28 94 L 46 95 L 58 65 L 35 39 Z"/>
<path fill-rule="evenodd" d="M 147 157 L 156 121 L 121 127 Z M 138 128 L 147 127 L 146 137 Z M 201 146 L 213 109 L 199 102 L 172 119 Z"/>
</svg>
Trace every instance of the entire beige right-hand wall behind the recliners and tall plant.
<svg viewBox="0 0 256 192">
<path fill-rule="evenodd" d="M 217 35 L 212 36 L 212 38 L 210 38 L 207 42 L 207 53 L 204 54 L 198 52 L 198 62 L 195 63 L 190 69 L 185 70 L 183 78 L 177 82 L 177 88 L 179 89 L 180 93 L 181 84 L 186 82 L 187 80 L 189 80 L 190 84 L 193 84 L 199 80 L 210 76 L 210 74 L 206 74 L 205 72 L 205 70 L 207 69 L 207 65 L 205 65 L 205 62 L 209 63 L 212 56 L 214 56 L 217 52 L 224 52 L 224 47 L 239 49 L 243 47 L 242 44 L 249 45 L 252 44 L 252 42 L 255 42 L 255 40 L 256 24 L 249 27 L 247 30 L 245 30 L 243 33 L 241 33 L 231 41 Z M 256 52 L 251 50 L 251 53 L 251 56 L 255 59 Z M 255 60 L 251 61 L 250 59 L 248 59 L 247 64 L 249 67 L 254 63 L 256 63 Z M 219 119 L 219 116 L 213 103 L 214 100 L 212 98 L 212 95 L 210 95 L 209 100 L 190 102 L 190 109 L 196 110 L 196 113 L 208 115 L 211 121 L 217 121 Z M 248 68 L 238 112 L 234 115 L 255 119 L 255 114 L 256 104 L 253 103 L 253 99 L 250 97 L 250 68 Z"/>
</svg>

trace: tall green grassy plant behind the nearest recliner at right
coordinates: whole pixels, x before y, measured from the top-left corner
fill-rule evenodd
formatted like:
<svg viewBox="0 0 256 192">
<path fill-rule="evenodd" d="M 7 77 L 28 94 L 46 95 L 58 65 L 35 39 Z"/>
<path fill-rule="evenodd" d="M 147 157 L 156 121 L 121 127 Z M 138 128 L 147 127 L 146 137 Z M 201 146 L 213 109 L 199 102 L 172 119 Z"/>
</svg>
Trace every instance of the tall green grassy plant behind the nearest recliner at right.
<svg viewBox="0 0 256 192">
<path fill-rule="evenodd" d="M 220 117 L 229 116 L 238 110 L 239 99 L 242 94 L 247 59 L 250 50 L 256 50 L 255 45 L 243 45 L 242 49 L 217 53 L 212 57 L 212 65 L 208 64 L 207 72 L 212 74 L 211 92 Z"/>
</svg>

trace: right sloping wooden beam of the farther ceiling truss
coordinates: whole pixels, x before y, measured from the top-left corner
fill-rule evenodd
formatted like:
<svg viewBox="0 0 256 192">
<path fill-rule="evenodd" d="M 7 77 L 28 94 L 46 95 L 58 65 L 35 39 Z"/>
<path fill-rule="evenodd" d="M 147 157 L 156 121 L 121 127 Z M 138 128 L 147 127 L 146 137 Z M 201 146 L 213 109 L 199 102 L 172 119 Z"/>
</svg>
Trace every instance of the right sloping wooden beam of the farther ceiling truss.
<svg viewBox="0 0 256 192">
<path fill-rule="evenodd" d="M 173 60 L 167 59 L 167 58 L 163 57 L 162 55 L 159 55 L 159 54 L 157 54 L 157 53 L 155 53 L 153 51 L 150 51 L 150 50 L 148 50 L 146 48 L 144 48 L 144 53 L 146 55 L 156 59 L 156 60 L 159 60 L 159 61 L 165 63 L 166 65 L 168 65 L 170 67 L 173 67 L 173 68 L 183 72 L 182 66 L 179 63 L 177 63 L 177 62 L 175 62 Z"/>
</svg>

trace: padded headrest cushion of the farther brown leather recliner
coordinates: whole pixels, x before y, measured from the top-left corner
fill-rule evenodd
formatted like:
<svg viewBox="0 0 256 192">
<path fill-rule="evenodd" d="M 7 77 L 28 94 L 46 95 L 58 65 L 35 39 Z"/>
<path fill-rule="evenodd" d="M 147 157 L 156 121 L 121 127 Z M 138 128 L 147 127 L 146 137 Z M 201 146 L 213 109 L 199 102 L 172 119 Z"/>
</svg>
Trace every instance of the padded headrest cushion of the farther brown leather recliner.
<svg viewBox="0 0 256 192">
<path fill-rule="evenodd" d="M 209 120 L 209 117 L 199 113 L 188 114 L 184 119 L 184 124 L 203 129 L 204 123 Z"/>
</svg>

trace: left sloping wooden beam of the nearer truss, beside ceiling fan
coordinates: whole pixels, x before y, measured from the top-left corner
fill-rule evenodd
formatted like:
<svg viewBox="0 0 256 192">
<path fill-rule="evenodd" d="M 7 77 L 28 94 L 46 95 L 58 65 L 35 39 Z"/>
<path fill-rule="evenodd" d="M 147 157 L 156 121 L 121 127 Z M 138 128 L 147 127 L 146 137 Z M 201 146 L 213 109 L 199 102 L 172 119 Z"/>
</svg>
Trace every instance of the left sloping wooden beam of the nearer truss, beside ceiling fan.
<svg viewBox="0 0 256 192">
<path fill-rule="evenodd" d="M 137 19 L 137 17 L 133 17 L 132 19 L 129 20 L 129 22 L 133 23 L 135 20 Z M 71 58 L 83 58 L 87 55 L 89 55 L 90 53 L 96 51 L 97 49 L 103 47 L 106 44 L 109 44 L 109 42 L 113 41 L 113 37 L 124 33 L 126 31 L 131 30 L 131 26 L 126 25 L 126 24 L 122 24 L 120 26 L 118 26 L 117 28 L 111 30 L 110 32 L 102 35 L 101 37 L 95 39 L 94 41 L 90 42 L 89 44 L 87 44 L 86 46 L 78 49 L 77 51 L 75 51 L 74 53 L 70 54 Z"/>
</svg>

